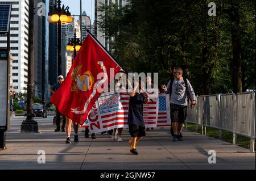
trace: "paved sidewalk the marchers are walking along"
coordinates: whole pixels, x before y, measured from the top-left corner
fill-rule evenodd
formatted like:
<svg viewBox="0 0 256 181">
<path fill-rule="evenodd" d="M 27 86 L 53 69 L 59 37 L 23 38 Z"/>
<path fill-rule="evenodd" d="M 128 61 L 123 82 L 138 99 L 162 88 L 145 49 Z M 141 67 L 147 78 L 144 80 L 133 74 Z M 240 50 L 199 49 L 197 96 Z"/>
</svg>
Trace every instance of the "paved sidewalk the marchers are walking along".
<svg viewBox="0 0 256 181">
<path fill-rule="evenodd" d="M 184 130 L 184 141 L 172 142 L 168 128 L 147 132 L 137 145 L 139 155 L 129 155 L 129 133 L 123 142 L 107 134 L 64 144 L 65 133 L 55 133 L 53 116 L 36 118 L 41 133 L 21 134 L 24 117 L 11 119 L 7 149 L 0 151 L 0 169 L 254 169 L 255 153 L 199 133 Z M 46 152 L 46 163 L 38 163 L 38 150 Z M 208 151 L 216 151 L 216 164 L 208 163 Z"/>
</svg>

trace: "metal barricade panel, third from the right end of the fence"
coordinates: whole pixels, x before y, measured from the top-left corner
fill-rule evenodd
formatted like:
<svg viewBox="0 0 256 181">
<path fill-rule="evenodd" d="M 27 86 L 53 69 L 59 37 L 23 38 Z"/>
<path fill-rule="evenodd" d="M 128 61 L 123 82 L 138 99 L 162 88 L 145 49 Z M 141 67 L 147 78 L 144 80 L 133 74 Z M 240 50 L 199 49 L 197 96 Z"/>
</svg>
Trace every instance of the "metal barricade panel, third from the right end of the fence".
<svg viewBox="0 0 256 181">
<path fill-rule="evenodd" d="M 216 95 L 204 95 L 204 125 L 212 128 L 220 128 L 219 98 Z"/>
</svg>

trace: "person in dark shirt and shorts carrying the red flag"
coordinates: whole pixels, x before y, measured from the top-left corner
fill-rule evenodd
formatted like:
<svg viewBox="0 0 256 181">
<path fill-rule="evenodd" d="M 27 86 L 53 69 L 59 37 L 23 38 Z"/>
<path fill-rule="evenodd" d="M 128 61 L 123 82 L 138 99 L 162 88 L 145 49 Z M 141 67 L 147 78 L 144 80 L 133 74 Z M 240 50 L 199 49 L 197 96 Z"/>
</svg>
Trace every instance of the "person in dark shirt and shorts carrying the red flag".
<svg viewBox="0 0 256 181">
<path fill-rule="evenodd" d="M 130 154 L 138 154 L 136 144 L 143 136 L 146 136 L 145 123 L 143 120 L 143 104 L 146 103 L 148 103 L 148 93 L 143 92 L 143 83 L 141 81 L 135 82 L 133 92 L 130 92 L 127 120 L 131 135 L 131 140 L 129 141 L 129 145 L 131 146 Z"/>
</svg>

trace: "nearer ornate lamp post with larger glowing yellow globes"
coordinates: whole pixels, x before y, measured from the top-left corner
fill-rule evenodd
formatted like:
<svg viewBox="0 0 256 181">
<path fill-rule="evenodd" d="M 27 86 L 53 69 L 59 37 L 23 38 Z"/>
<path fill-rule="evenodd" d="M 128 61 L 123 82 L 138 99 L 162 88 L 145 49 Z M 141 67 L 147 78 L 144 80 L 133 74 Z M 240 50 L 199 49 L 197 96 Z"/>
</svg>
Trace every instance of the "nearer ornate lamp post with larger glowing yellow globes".
<svg viewBox="0 0 256 181">
<path fill-rule="evenodd" d="M 49 23 L 58 24 L 58 61 L 57 61 L 57 75 L 61 75 L 61 24 L 71 23 L 73 18 L 69 12 L 69 7 L 63 5 L 61 7 L 61 1 L 57 1 L 57 5 L 54 5 L 49 9 L 48 18 Z"/>
</svg>

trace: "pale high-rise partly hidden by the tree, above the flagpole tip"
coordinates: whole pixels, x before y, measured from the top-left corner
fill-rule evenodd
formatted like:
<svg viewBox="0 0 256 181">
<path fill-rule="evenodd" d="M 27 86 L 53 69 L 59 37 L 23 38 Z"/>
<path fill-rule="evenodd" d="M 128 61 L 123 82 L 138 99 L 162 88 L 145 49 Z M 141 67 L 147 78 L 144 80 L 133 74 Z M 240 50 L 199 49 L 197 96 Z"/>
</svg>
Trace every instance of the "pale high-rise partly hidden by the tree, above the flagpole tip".
<svg viewBox="0 0 256 181">
<path fill-rule="evenodd" d="M 127 0 L 95 0 L 95 20 L 94 20 L 94 32 L 95 36 L 100 41 L 102 45 L 108 50 L 111 48 L 109 47 L 109 41 L 112 41 L 112 37 L 106 37 L 104 32 L 98 27 L 98 22 L 101 22 L 100 15 L 102 12 L 98 11 L 98 7 L 101 6 L 101 3 L 105 5 L 111 6 L 112 3 L 118 3 L 118 6 L 125 6 L 127 5 Z"/>
</svg>

